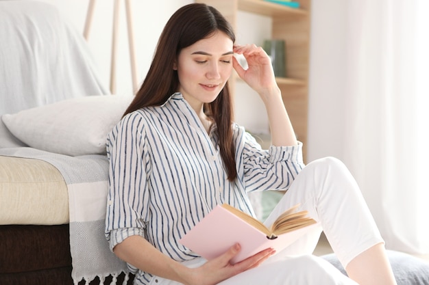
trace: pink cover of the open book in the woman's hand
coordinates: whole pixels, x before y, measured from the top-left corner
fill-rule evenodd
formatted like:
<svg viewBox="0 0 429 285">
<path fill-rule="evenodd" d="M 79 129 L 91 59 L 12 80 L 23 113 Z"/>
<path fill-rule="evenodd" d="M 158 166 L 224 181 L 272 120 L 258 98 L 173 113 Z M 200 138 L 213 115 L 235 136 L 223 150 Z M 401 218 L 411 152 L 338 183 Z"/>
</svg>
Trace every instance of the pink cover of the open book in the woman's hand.
<svg viewBox="0 0 429 285">
<path fill-rule="evenodd" d="M 239 243 L 241 251 L 232 259 L 236 263 L 269 247 L 273 247 L 278 253 L 316 225 L 269 239 L 263 232 L 218 205 L 179 242 L 207 260 L 220 256 L 232 245 Z"/>
</svg>

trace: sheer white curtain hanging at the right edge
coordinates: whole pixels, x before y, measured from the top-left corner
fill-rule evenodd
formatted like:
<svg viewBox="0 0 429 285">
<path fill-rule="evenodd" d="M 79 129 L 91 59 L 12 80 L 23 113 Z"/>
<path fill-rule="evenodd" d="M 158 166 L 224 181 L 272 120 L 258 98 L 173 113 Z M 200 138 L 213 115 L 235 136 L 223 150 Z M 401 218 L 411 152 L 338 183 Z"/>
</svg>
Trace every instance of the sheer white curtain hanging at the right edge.
<svg viewBox="0 0 429 285">
<path fill-rule="evenodd" d="M 347 6 L 342 159 L 387 248 L 413 254 L 429 253 L 428 11 L 427 0 Z"/>
</svg>

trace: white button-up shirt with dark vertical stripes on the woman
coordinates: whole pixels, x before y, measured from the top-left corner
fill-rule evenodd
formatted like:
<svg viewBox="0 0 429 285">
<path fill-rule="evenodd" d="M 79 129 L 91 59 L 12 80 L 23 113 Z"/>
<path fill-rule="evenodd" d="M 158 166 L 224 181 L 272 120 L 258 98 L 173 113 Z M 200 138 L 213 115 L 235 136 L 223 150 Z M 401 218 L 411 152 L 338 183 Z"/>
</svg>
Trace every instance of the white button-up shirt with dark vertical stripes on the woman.
<svg viewBox="0 0 429 285">
<path fill-rule="evenodd" d="M 127 114 L 107 142 L 110 247 L 138 234 L 174 260 L 190 260 L 195 254 L 178 240 L 217 204 L 254 215 L 247 191 L 288 189 L 304 167 L 302 144 L 262 150 L 243 127 L 234 124 L 233 132 L 237 178 L 230 182 L 216 128 L 206 133 L 182 94 Z M 138 284 L 150 279 L 136 274 Z"/>
</svg>

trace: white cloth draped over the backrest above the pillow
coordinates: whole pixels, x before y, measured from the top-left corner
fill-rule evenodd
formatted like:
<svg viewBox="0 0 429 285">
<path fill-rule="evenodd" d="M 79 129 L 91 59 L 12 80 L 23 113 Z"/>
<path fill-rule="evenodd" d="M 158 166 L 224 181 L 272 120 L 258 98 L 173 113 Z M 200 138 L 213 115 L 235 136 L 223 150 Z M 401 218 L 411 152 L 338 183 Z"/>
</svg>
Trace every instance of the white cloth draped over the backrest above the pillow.
<svg viewBox="0 0 429 285">
<path fill-rule="evenodd" d="M 0 27 L 0 115 L 110 94 L 83 36 L 53 5 L 0 1 Z"/>
</svg>

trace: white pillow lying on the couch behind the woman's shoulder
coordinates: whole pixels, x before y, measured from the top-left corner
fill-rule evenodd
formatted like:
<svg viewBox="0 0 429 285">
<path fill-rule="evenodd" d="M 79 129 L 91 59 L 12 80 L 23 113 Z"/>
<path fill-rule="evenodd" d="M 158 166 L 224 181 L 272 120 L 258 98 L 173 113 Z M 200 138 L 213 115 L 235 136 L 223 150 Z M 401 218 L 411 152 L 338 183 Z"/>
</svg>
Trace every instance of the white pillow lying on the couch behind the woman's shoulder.
<svg viewBox="0 0 429 285">
<path fill-rule="evenodd" d="M 78 156 L 105 154 L 106 138 L 132 96 L 84 96 L 1 117 L 10 133 L 32 148 Z"/>
</svg>

